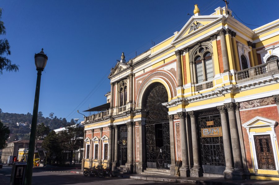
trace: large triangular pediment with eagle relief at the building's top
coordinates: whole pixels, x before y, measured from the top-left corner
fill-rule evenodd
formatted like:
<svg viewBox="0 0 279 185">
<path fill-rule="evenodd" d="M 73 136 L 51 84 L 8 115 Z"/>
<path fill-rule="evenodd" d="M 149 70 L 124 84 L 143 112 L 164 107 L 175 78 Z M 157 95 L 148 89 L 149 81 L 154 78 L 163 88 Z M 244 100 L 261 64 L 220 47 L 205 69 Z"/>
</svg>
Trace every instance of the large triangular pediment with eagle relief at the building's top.
<svg viewBox="0 0 279 185">
<path fill-rule="evenodd" d="M 186 36 L 192 36 L 195 33 L 204 30 L 214 24 L 217 20 L 221 19 L 223 15 L 195 15 L 192 16 L 183 28 L 175 36 L 172 43 L 181 40 Z"/>
</svg>

